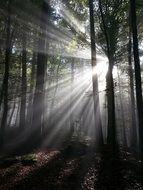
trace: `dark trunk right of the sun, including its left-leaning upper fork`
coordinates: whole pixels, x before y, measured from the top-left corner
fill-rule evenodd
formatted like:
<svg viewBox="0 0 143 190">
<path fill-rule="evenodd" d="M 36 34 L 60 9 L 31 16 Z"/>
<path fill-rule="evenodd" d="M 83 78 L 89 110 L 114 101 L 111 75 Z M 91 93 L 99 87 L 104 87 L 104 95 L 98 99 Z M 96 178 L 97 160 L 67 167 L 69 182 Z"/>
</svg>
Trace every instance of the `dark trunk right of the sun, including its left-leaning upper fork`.
<svg viewBox="0 0 143 190">
<path fill-rule="evenodd" d="M 106 85 L 107 85 L 107 112 L 108 112 L 108 127 L 107 127 L 107 143 L 112 145 L 114 149 L 116 147 L 116 122 L 115 122 L 115 96 L 114 96 L 114 81 L 113 81 L 113 65 L 114 65 L 114 58 L 111 52 L 111 46 L 109 44 L 109 36 L 107 33 L 107 27 L 104 20 L 104 15 L 102 11 L 102 3 L 99 0 L 99 9 L 101 14 L 101 19 L 103 23 L 103 30 L 107 45 L 107 56 L 109 60 L 108 72 L 106 75 Z"/>
</svg>

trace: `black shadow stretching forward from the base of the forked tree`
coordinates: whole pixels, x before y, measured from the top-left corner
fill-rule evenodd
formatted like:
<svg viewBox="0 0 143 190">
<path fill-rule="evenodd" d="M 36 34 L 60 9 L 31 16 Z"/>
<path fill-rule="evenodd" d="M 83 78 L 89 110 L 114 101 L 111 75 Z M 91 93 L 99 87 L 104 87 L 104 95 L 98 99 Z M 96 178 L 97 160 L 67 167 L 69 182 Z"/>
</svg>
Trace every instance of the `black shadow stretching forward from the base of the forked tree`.
<svg viewBox="0 0 143 190">
<path fill-rule="evenodd" d="M 102 148 L 95 182 L 96 189 L 125 189 L 119 150 L 118 147 L 116 148 L 115 152 L 111 151 L 110 146 L 107 145 Z"/>
</svg>

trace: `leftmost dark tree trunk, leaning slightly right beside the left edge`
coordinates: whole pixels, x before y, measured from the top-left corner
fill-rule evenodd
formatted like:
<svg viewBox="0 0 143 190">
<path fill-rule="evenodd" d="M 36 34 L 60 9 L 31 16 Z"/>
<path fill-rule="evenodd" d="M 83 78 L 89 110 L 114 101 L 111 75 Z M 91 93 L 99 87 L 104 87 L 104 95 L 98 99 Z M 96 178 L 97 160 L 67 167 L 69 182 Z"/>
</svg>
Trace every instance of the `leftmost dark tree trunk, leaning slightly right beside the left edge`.
<svg viewBox="0 0 143 190">
<path fill-rule="evenodd" d="M 5 51 L 5 73 L 3 79 L 3 95 L 4 95 L 4 108 L 0 128 L 0 145 L 4 143 L 4 133 L 5 127 L 7 124 L 7 113 L 8 113 L 8 79 L 9 79 L 9 63 L 10 63 L 10 54 L 11 54 L 11 0 L 8 1 L 8 18 L 7 18 L 7 27 L 6 27 L 6 51 Z"/>
</svg>

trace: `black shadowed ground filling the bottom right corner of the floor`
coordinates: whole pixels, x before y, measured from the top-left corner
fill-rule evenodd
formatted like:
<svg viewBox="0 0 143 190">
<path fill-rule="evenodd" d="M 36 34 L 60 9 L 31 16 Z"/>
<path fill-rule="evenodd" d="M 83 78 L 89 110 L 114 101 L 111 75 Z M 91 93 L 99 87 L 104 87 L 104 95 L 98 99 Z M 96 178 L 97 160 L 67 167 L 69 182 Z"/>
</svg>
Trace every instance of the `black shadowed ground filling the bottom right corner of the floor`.
<svg viewBox="0 0 143 190">
<path fill-rule="evenodd" d="M 101 161 L 98 164 L 95 189 L 143 189 L 141 164 L 137 164 L 136 159 L 136 162 L 134 160 L 131 163 L 128 158 L 122 157 L 122 153 L 119 147 L 113 153 L 107 145 L 104 146 L 101 151 Z"/>
</svg>

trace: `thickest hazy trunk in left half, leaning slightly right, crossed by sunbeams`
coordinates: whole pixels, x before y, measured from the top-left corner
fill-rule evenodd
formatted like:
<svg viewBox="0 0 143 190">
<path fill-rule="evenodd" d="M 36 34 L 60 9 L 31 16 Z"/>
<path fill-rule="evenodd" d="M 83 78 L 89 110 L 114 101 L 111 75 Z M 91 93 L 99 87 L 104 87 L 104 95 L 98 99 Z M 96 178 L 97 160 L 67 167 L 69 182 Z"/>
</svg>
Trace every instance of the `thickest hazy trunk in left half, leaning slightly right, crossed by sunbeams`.
<svg viewBox="0 0 143 190">
<path fill-rule="evenodd" d="M 48 24 L 49 5 L 43 1 L 41 20 L 40 20 L 40 35 L 37 55 L 37 74 L 36 74 L 36 87 L 33 100 L 33 133 L 36 140 L 42 135 L 43 130 L 43 111 L 44 111 L 44 78 L 45 78 L 45 65 L 47 63 L 46 52 L 46 34 Z M 47 16 L 46 16 L 47 15 Z"/>
</svg>

